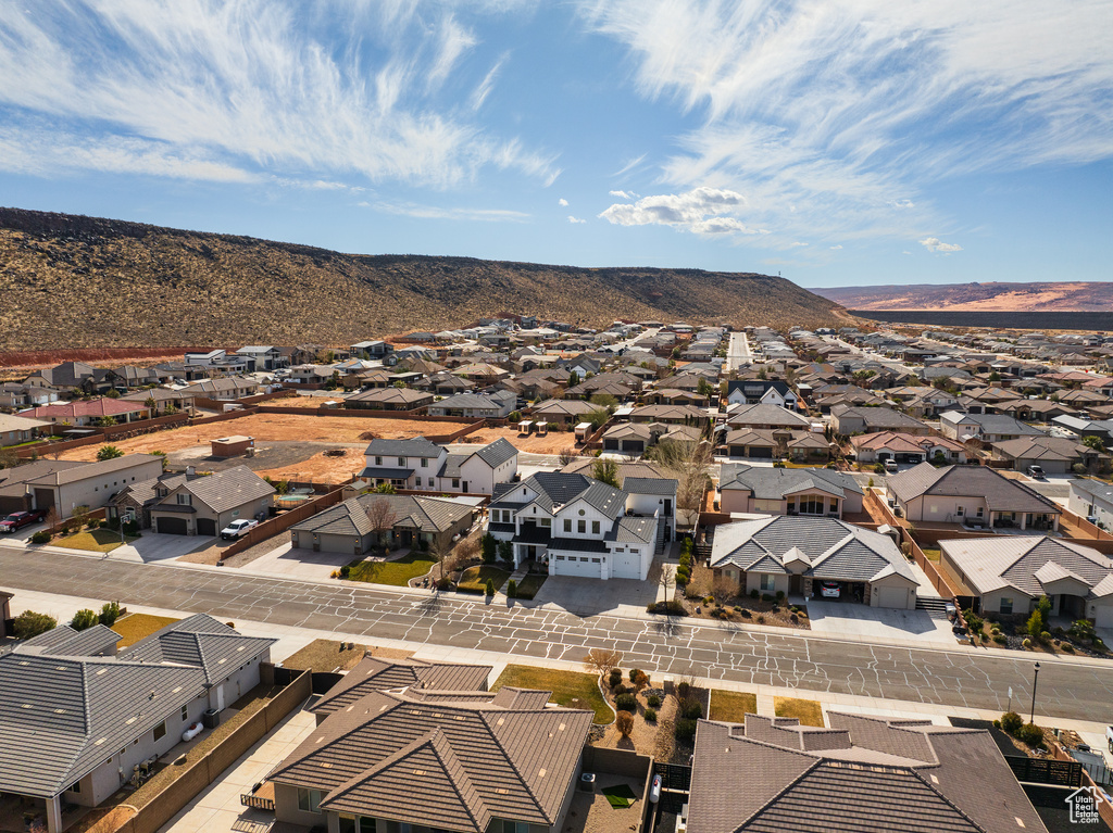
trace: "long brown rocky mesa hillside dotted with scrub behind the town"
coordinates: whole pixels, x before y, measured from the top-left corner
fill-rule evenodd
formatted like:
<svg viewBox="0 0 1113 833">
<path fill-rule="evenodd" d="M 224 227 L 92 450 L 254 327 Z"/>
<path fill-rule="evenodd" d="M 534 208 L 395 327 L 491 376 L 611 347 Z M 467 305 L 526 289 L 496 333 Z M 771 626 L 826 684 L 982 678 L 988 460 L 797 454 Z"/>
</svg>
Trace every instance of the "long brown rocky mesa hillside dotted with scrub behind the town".
<svg viewBox="0 0 1113 833">
<path fill-rule="evenodd" d="M 249 237 L 0 208 L 0 350 L 349 344 L 510 309 L 784 327 L 835 304 L 782 278 L 407 255 L 342 255 Z"/>
</svg>

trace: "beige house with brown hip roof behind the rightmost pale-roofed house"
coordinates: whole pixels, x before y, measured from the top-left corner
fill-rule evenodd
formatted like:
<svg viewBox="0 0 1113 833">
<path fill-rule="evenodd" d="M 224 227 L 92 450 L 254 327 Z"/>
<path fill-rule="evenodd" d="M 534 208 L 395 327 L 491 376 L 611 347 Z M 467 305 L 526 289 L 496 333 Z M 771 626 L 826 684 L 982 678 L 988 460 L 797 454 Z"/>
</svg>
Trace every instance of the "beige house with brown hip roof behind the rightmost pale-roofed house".
<svg viewBox="0 0 1113 833">
<path fill-rule="evenodd" d="M 984 466 L 920 463 L 888 478 L 889 494 L 912 522 L 1058 529 L 1058 505 Z"/>
</svg>

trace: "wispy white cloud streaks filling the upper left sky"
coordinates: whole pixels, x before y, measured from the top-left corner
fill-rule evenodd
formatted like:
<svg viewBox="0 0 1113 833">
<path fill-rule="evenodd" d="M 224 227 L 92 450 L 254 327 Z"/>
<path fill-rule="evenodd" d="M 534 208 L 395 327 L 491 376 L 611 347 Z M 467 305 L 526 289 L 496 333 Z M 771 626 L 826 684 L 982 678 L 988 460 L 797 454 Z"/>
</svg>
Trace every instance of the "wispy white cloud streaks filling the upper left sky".
<svg viewBox="0 0 1113 833">
<path fill-rule="evenodd" d="M 464 16 L 501 13 L 496 3 L 323 0 L 312 13 L 266 0 L 23 6 L 0 6 L 7 137 L 32 157 L 68 156 L 63 168 L 108 169 L 104 149 L 135 141 L 190 160 L 164 176 L 357 175 L 433 187 L 489 167 L 555 177 L 553 155 L 474 122 L 459 96 L 445 103 L 477 42 Z M 83 152 L 68 153 L 75 147 Z M 17 168 L 19 159 L 0 165 L 58 170 L 33 158 Z"/>
</svg>

